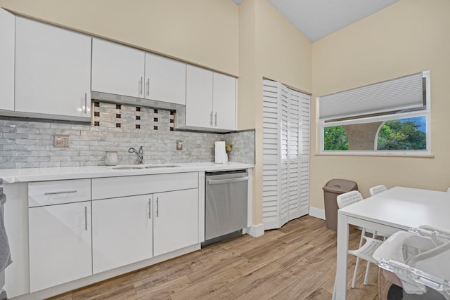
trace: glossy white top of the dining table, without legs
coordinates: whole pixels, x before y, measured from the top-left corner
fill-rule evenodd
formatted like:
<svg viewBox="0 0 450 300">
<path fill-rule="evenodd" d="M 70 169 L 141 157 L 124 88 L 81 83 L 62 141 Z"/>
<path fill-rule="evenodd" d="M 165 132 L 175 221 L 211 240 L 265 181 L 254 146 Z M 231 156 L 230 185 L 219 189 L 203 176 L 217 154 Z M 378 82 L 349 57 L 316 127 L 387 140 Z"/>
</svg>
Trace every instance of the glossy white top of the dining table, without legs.
<svg viewBox="0 0 450 300">
<path fill-rule="evenodd" d="M 450 193 L 395 187 L 339 213 L 403 230 L 425 224 L 450 229 Z"/>
</svg>

